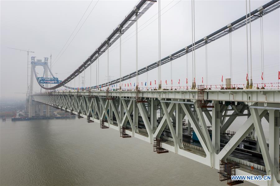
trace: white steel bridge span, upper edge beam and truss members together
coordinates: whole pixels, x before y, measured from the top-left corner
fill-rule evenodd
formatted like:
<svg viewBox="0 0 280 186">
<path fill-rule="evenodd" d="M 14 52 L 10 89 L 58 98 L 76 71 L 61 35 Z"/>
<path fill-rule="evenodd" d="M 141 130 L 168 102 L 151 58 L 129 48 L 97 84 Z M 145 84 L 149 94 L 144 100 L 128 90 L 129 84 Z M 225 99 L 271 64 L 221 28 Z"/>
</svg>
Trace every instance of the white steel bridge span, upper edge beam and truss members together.
<svg viewBox="0 0 280 186">
<path fill-rule="evenodd" d="M 168 128 L 173 142 L 162 143 L 163 148 L 216 169 L 219 169 L 220 160 L 226 160 L 240 142 L 254 131 L 265 165 L 265 169 L 261 167 L 260 170 L 265 170 L 267 175 L 272 176 L 272 180 L 251 182 L 258 185 L 280 184 L 280 90 L 205 90 L 204 98 L 214 104 L 212 110 L 198 107 L 197 90 L 140 91 L 140 96 L 147 102 L 136 102 L 136 91 L 110 91 L 109 96 L 114 99 L 107 99 L 106 91 L 52 92 L 34 94 L 33 100 L 59 107 L 84 118 L 89 116 L 95 122 L 107 119 L 105 125 L 116 130 L 129 124 L 131 130 L 126 130 L 126 133 L 148 143 L 152 143 L 153 138 L 159 138 L 164 129 Z M 161 121 L 157 120 L 156 116 L 159 109 Z M 248 113 L 244 113 L 245 110 Z M 229 114 L 228 111 L 232 113 Z M 182 120 L 185 116 L 189 120 L 189 128 L 192 127 L 196 133 L 206 157 L 184 148 L 186 143 L 183 143 Z M 248 119 L 220 150 L 220 134 L 225 132 L 238 116 L 248 116 Z M 261 125 L 263 117 L 269 123 L 269 147 Z M 212 125 L 212 140 L 205 118 Z M 139 121 L 143 122 L 145 129 L 138 127 Z M 173 122 L 176 123 L 175 126 Z M 252 172 L 237 169 L 236 175 L 252 175 Z"/>
</svg>

